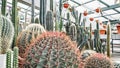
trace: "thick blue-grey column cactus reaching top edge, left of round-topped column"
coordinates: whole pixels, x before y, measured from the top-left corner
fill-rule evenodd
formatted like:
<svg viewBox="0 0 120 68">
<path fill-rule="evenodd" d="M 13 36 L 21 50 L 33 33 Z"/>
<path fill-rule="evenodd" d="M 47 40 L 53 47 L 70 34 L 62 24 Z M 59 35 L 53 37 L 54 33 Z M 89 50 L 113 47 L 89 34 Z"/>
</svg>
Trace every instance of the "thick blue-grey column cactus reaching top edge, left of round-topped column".
<svg viewBox="0 0 120 68">
<path fill-rule="evenodd" d="M 46 15 L 46 5 L 47 5 L 47 0 L 40 0 L 40 14 L 39 14 L 39 19 L 40 19 L 40 24 L 46 28 L 45 23 L 45 15 Z"/>
</svg>

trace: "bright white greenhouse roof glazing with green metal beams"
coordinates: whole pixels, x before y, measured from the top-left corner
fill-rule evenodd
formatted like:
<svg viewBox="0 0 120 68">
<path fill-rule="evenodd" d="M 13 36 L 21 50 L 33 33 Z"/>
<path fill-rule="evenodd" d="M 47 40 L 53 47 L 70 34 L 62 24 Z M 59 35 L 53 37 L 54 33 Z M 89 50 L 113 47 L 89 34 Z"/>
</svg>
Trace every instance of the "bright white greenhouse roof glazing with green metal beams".
<svg viewBox="0 0 120 68">
<path fill-rule="evenodd" d="M 12 0 L 7 0 L 8 4 L 11 5 Z M 21 12 L 31 11 L 32 0 L 18 0 L 18 7 L 21 7 Z M 39 2 L 40 0 L 35 0 L 35 15 L 39 13 Z M 88 17 L 99 18 L 102 21 L 108 20 L 119 20 L 120 18 L 120 0 L 67 0 L 67 2 L 76 8 L 79 13 L 83 13 L 85 10 L 88 11 Z M 54 0 L 54 3 L 58 3 L 59 0 Z M 1 3 L 1 1 L 0 1 Z M 101 8 L 102 13 L 97 14 L 95 12 L 96 8 Z M 29 15 L 31 12 L 28 13 Z"/>
</svg>

